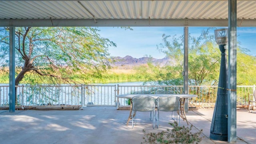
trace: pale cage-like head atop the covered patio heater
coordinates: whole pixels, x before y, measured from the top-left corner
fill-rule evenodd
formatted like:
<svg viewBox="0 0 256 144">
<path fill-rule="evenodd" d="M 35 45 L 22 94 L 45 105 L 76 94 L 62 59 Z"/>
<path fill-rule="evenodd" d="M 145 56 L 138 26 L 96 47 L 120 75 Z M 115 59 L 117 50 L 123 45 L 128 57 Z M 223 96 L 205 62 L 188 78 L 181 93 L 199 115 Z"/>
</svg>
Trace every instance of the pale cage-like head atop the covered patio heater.
<svg viewBox="0 0 256 144">
<path fill-rule="evenodd" d="M 215 41 L 218 45 L 228 44 L 228 28 L 220 28 L 214 30 Z"/>
</svg>

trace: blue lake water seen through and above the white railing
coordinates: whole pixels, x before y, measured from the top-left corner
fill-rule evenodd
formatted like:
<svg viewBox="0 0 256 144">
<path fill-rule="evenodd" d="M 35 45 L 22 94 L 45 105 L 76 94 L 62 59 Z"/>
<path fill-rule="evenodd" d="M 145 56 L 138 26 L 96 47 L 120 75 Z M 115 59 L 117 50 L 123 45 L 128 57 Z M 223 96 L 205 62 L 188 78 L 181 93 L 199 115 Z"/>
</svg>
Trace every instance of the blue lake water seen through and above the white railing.
<svg viewBox="0 0 256 144">
<path fill-rule="evenodd" d="M 116 87 L 113 87 L 114 85 L 116 85 Z M 116 101 L 116 97 L 114 97 L 116 95 L 116 91 L 114 91 L 117 88 L 117 85 L 120 86 L 125 86 L 125 87 L 120 87 L 120 93 L 124 92 L 124 93 L 130 93 L 131 87 L 130 86 L 140 86 L 143 85 L 143 82 L 124 82 L 124 83 L 94 83 L 91 84 L 91 86 L 88 85 L 88 89 L 86 89 L 86 93 L 84 93 L 84 104 L 87 103 L 94 103 L 94 105 L 115 105 L 115 101 Z M 0 105 L 6 105 L 6 103 L 8 103 L 8 93 L 9 93 L 9 85 L 8 84 L 0 84 Z M 62 85 L 63 86 L 63 85 Z M 109 86 L 109 87 L 108 87 Z M 25 97 L 25 103 L 29 100 L 31 100 L 32 102 L 29 103 L 38 103 L 38 99 L 42 99 L 42 97 L 45 97 L 44 101 L 48 101 L 46 100 L 46 96 L 50 97 L 51 99 L 57 99 L 58 102 L 60 103 L 60 101 L 66 101 L 65 104 L 70 104 L 73 102 L 77 102 L 79 103 L 77 98 L 81 95 L 80 91 L 80 87 L 78 86 L 76 89 L 74 89 L 74 87 L 72 88 L 67 86 L 68 88 L 66 88 L 66 86 L 64 87 L 49 87 L 49 88 L 44 88 L 45 90 L 40 90 L 38 93 L 36 93 L 36 90 L 32 90 L 29 87 L 24 87 L 24 97 Z M 17 94 L 18 95 L 22 95 L 22 87 L 19 87 L 17 89 Z M 61 89 L 61 90 L 60 90 Z M 127 90 L 125 90 L 127 89 Z M 133 87 L 134 89 L 134 87 Z M 77 91 L 76 91 L 77 90 Z M 63 91 L 63 93 L 62 93 Z M 134 91 L 134 90 L 133 90 Z M 58 94 L 57 94 L 58 92 Z M 70 94 L 69 94 L 70 93 Z M 36 95 L 37 97 L 31 97 L 31 95 Z M 39 96 L 38 96 L 39 95 Z M 60 96 L 59 97 L 57 97 Z M 54 97 L 55 96 L 55 97 Z M 76 96 L 76 97 L 74 97 Z M 75 98 L 73 100 L 73 98 Z M 35 100 L 34 100 L 35 99 Z M 40 99 L 40 101 L 41 101 Z M 71 100 L 70 100 L 71 99 Z M 34 102 L 36 101 L 37 102 Z M 124 101 L 120 101 L 121 103 L 124 104 Z M 58 104 L 59 104 L 58 103 Z M 61 102 L 62 104 L 63 102 Z M 53 103 L 52 104 L 56 104 Z M 40 105 L 40 104 L 39 104 Z M 75 104 L 78 105 L 78 104 Z"/>
</svg>

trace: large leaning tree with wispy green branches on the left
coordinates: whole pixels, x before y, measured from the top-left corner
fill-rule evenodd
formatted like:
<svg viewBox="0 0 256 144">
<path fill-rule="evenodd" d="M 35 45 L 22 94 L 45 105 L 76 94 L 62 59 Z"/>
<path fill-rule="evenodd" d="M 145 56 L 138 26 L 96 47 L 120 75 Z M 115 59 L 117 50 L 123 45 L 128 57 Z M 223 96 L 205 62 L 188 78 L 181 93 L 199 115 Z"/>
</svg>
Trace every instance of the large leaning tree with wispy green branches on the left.
<svg viewBox="0 0 256 144">
<path fill-rule="evenodd" d="M 110 68 L 116 44 L 90 27 L 16 28 L 16 79 L 23 83 L 88 83 Z M 9 29 L 0 28 L 0 67 L 9 66 Z"/>
</svg>

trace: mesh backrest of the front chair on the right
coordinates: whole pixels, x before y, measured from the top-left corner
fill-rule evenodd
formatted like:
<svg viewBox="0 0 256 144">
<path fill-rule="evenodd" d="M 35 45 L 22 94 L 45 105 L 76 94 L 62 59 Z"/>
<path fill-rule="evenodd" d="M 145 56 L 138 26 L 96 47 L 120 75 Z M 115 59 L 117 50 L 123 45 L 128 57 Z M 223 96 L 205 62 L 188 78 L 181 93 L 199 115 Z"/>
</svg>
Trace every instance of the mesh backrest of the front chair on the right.
<svg viewBox="0 0 256 144">
<path fill-rule="evenodd" d="M 177 111 L 180 108 L 180 98 L 175 96 L 158 97 L 158 110 Z"/>
</svg>

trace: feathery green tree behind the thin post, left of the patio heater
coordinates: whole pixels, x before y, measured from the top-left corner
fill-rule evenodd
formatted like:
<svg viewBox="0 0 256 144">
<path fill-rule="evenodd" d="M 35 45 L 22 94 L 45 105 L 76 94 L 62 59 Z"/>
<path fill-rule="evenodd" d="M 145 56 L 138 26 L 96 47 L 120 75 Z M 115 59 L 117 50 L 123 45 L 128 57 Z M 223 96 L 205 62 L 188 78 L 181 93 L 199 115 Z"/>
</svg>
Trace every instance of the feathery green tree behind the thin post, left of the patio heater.
<svg viewBox="0 0 256 144">
<path fill-rule="evenodd" d="M 218 80 L 220 52 L 214 41 L 214 36 L 209 34 L 209 30 L 210 28 L 202 31 L 199 37 L 189 36 L 188 71 L 190 85 L 213 85 Z M 163 81 L 166 81 L 164 84 L 180 85 L 183 79 L 184 39 L 173 36 L 172 42 L 170 42 L 170 36 L 163 34 L 162 37 L 163 43 L 158 45 L 158 50 L 165 53 L 173 62 L 163 67 L 166 69 L 166 73 L 160 76 Z M 172 77 L 165 77 L 166 75 L 172 75 Z"/>
</svg>

